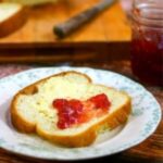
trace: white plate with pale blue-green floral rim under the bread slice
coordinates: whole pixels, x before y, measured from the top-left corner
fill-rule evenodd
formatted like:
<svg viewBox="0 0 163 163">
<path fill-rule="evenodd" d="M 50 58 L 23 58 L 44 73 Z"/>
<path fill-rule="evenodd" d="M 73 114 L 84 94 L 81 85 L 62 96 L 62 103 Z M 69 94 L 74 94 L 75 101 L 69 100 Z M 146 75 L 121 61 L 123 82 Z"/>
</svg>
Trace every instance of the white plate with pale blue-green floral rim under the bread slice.
<svg viewBox="0 0 163 163">
<path fill-rule="evenodd" d="M 62 148 L 34 135 L 17 133 L 10 123 L 9 106 L 13 95 L 23 87 L 52 74 L 75 70 L 88 74 L 93 83 L 124 90 L 133 98 L 133 112 L 126 125 L 101 134 L 86 148 Z M 137 83 L 109 71 L 87 67 L 43 67 L 26 71 L 0 80 L 0 147 L 9 151 L 47 160 L 85 160 L 121 152 L 134 147 L 156 128 L 161 108 L 153 96 Z"/>
</svg>

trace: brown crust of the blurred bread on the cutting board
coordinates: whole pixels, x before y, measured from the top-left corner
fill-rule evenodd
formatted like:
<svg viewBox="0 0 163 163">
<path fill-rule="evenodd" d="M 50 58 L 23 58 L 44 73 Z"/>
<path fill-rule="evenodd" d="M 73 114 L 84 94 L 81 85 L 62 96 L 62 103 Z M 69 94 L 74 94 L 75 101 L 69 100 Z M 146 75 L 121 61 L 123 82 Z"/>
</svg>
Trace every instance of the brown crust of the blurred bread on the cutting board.
<svg viewBox="0 0 163 163">
<path fill-rule="evenodd" d="M 28 8 L 23 7 L 16 14 L 8 20 L 0 22 L 0 37 L 5 37 L 20 29 L 27 21 Z"/>
</svg>

